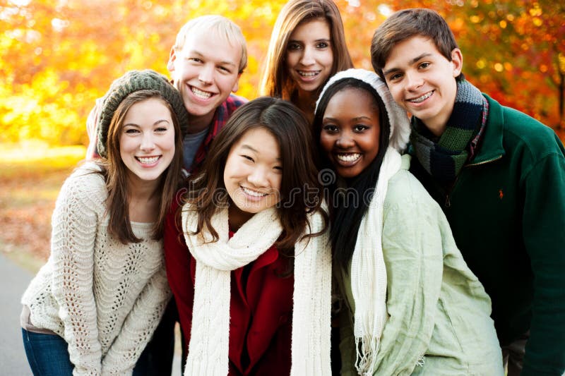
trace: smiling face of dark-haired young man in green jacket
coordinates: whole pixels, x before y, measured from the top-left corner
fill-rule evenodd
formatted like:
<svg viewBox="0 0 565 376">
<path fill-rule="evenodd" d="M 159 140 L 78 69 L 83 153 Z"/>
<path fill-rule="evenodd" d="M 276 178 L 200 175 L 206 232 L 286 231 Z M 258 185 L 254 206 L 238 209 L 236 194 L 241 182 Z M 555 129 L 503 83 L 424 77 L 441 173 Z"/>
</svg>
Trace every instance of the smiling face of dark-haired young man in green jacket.
<svg viewBox="0 0 565 376">
<path fill-rule="evenodd" d="M 459 49 L 451 51 L 448 61 L 433 40 L 417 35 L 393 47 L 383 75 L 394 100 L 434 135 L 441 135 L 453 111 L 455 78 L 462 66 Z"/>
</svg>

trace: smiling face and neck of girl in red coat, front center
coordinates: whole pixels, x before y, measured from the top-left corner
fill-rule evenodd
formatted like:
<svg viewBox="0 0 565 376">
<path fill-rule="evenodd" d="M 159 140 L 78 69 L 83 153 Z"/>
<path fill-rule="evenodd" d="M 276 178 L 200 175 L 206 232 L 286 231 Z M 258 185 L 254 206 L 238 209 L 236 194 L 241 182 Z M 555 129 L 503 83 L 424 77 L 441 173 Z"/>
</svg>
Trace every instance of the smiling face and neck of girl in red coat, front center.
<svg viewBox="0 0 565 376">
<path fill-rule="evenodd" d="M 224 168 L 224 184 L 230 205 L 230 226 L 239 227 L 253 214 L 280 200 L 283 166 L 280 147 L 265 128 L 246 131 L 230 149 Z"/>
</svg>

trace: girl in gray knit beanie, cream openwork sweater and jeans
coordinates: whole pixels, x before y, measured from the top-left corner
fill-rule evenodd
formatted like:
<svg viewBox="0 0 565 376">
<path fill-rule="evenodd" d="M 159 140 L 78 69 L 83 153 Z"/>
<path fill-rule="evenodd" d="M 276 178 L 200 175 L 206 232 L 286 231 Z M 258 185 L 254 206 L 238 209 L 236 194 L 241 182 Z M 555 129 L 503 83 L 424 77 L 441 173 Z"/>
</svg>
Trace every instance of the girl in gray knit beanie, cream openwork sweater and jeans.
<svg viewBox="0 0 565 376">
<path fill-rule="evenodd" d="M 161 238 L 187 120 L 159 73 L 112 83 L 98 121 L 101 159 L 66 179 L 51 255 L 22 298 L 34 375 L 145 375 L 134 367 L 170 298 Z"/>
</svg>

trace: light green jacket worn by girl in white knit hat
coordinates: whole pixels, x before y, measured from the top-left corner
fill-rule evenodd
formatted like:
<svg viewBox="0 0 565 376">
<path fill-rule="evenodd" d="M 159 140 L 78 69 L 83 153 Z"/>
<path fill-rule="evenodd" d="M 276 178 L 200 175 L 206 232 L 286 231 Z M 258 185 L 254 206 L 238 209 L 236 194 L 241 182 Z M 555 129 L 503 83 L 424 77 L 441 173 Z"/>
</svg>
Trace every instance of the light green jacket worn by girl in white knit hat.
<svg viewBox="0 0 565 376">
<path fill-rule="evenodd" d="M 441 208 L 407 171 L 409 166 L 405 155 L 384 202 L 389 317 L 374 375 L 504 375 L 490 299 L 463 261 Z M 345 297 L 342 375 L 357 375 L 349 273 L 350 267 L 335 267 Z"/>
</svg>

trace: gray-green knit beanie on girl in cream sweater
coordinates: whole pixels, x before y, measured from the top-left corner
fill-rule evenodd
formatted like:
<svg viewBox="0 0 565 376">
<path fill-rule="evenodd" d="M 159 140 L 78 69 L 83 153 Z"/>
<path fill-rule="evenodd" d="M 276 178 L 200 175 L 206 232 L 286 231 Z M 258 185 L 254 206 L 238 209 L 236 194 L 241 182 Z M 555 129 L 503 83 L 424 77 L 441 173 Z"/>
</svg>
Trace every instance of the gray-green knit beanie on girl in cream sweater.
<svg viewBox="0 0 565 376">
<path fill-rule="evenodd" d="M 123 101 L 132 92 L 139 90 L 156 90 L 171 104 L 177 115 L 181 132 L 184 135 L 189 126 L 189 113 L 186 112 L 180 92 L 174 88 L 164 75 L 145 69 L 145 71 L 129 71 L 114 80 L 106 95 L 102 98 L 102 107 L 97 121 L 97 150 L 101 157 L 107 157 L 106 142 L 112 116 Z"/>
</svg>

